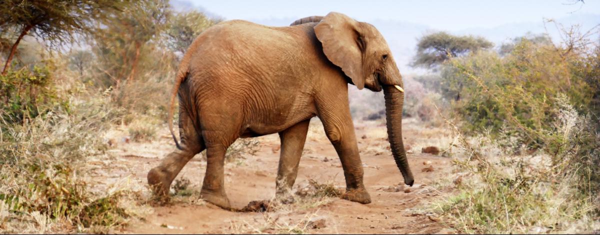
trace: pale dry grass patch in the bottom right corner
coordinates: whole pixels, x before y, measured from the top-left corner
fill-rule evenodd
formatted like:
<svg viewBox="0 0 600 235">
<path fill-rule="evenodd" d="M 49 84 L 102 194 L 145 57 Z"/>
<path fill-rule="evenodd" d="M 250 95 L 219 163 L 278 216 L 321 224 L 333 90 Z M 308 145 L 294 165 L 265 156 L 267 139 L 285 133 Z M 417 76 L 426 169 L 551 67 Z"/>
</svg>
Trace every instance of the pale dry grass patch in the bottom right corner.
<svg viewBox="0 0 600 235">
<path fill-rule="evenodd" d="M 568 104 L 561 107 L 557 113 L 573 114 Z M 437 201 L 433 208 L 455 228 L 463 233 L 586 233 L 600 228 L 594 218 L 598 198 L 593 182 L 585 177 L 593 166 L 578 162 L 584 153 L 565 152 L 560 161 L 545 152 L 515 155 L 514 146 L 506 144 L 513 139 L 510 135 L 491 138 L 483 132 L 467 138 L 446 121 L 456 130 L 464 155 L 454 159 L 462 180 L 457 183 L 457 194 Z M 548 134 L 563 134 L 565 140 L 575 141 L 581 139 L 575 134 L 584 134 L 588 128 L 586 123 L 583 116 L 557 115 L 553 125 L 560 133 Z M 585 148 L 587 143 L 572 144 Z M 598 157 L 597 152 L 589 154 L 589 158 Z"/>
</svg>

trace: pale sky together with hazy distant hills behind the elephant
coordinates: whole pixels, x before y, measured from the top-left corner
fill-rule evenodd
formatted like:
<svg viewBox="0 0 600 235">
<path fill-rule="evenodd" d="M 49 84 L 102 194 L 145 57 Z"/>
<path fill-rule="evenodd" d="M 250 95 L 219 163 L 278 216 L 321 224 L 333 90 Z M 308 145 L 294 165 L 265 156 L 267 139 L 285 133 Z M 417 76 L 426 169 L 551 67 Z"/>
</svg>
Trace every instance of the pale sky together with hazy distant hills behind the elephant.
<svg viewBox="0 0 600 235">
<path fill-rule="evenodd" d="M 415 53 L 416 41 L 427 32 L 478 35 L 500 46 L 527 33 L 547 33 L 559 41 L 553 24 L 544 28 L 546 19 L 565 26 L 577 24 L 582 31 L 600 24 L 600 1 L 378 1 L 362 5 L 358 1 L 308 0 L 304 4 L 290 4 L 271 0 L 259 3 L 172 0 L 171 4 L 178 10 L 196 9 L 224 20 L 242 19 L 269 26 L 287 26 L 301 17 L 323 16 L 330 11 L 344 13 L 376 26 L 388 41 L 398 66 L 411 73 L 419 71 L 408 65 Z M 236 7 L 230 7 L 232 5 Z"/>
</svg>

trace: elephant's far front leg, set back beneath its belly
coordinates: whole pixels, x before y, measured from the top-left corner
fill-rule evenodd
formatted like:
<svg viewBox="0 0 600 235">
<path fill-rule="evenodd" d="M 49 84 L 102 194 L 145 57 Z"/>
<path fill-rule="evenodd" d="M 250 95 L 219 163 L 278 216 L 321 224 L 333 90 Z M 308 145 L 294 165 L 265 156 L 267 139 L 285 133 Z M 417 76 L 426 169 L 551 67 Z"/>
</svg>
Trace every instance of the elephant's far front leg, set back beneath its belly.
<svg viewBox="0 0 600 235">
<path fill-rule="evenodd" d="M 290 192 L 298 175 L 298 164 L 302 156 L 304 143 L 306 142 L 309 123 L 310 119 L 304 120 L 279 132 L 281 155 L 277 171 L 277 189 L 275 195 L 286 203 L 293 202 Z"/>
</svg>

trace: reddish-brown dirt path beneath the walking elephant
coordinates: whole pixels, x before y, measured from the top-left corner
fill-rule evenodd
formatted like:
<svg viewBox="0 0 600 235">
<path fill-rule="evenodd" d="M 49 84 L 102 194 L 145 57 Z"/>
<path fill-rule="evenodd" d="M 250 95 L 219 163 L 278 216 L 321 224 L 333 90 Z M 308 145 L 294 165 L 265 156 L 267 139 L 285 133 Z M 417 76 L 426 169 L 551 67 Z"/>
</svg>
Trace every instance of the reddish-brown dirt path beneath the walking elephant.
<svg viewBox="0 0 600 235">
<path fill-rule="evenodd" d="M 318 121 L 318 120 L 317 120 Z M 320 123 L 318 123 L 320 125 Z M 331 182 L 343 187 L 340 161 L 322 129 L 311 124 L 304 155 L 300 162 L 295 188 L 307 185 L 308 179 Z M 404 125 L 409 126 L 409 125 Z M 428 130 L 428 138 L 434 137 Z M 407 149 L 416 146 L 424 130 L 405 128 Z M 385 126 L 361 123 L 356 126 L 359 149 L 365 170 L 365 186 L 371 194 L 371 204 L 353 203 L 339 198 L 325 198 L 311 203 L 281 207 L 275 212 L 229 212 L 202 200 L 176 201 L 170 206 L 154 207 L 145 221 L 135 222 L 125 233 L 444 233 L 445 227 L 434 216 L 419 209 L 444 192 L 435 188 L 438 182 L 448 182 L 451 164 L 448 158 L 427 153 L 409 153 L 416 185 L 404 192 L 403 180 L 391 152 L 386 149 Z M 166 137 L 152 143 L 122 144 L 115 151 L 118 176 L 131 174 L 144 183 L 148 170 L 160 162 L 172 148 Z M 253 200 L 269 200 L 275 194 L 275 176 L 279 160 L 278 135 L 260 137 L 256 156 L 245 156 L 226 165 L 226 190 L 233 207 L 242 208 Z M 420 146 L 415 148 L 420 149 Z M 413 151 L 409 151 L 413 152 Z M 416 152 L 416 151 L 414 151 Z M 422 171 L 431 161 L 433 171 Z M 191 181 L 190 188 L 199 191 L 206 164 L 196 156 L 179 174 Z M 448 187 L 446 187 L 448 188 Z M 394 190 L 396 189 L 396 190 Z M 399 191 L 398 191 L 399 190 Z M 449 189 L 446 189 L 449 190 Z M 395 192 L 398 191 L 398 192 Z M 442 190 L 443 191 L 443 190 Z"/>
</svg>

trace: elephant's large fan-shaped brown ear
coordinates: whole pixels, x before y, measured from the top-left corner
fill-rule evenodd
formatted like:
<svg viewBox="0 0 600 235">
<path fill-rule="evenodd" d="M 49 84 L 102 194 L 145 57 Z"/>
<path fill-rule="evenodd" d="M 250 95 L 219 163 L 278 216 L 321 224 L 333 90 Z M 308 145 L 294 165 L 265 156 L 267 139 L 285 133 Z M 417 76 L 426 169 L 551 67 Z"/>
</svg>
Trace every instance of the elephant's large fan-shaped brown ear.
<svg viewBox="0 0 600 235">
<path fill-rule="evenodd" d="M 314 26 L 314 32 L 327 59 L 340 67 L 356 88 L 362 89 L 368 76 L 362 64 L 366 42 L 358 25 L 356 20 L 344 14 L 331 12 Z"/>
</svg>

